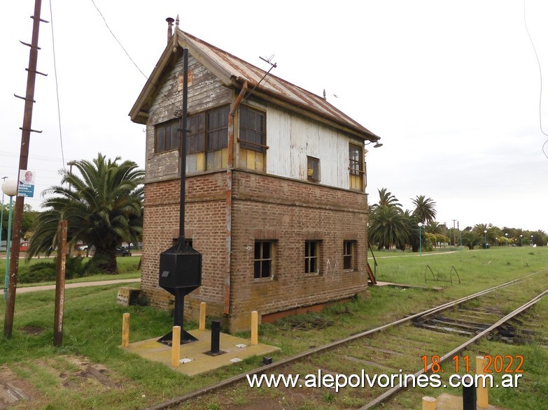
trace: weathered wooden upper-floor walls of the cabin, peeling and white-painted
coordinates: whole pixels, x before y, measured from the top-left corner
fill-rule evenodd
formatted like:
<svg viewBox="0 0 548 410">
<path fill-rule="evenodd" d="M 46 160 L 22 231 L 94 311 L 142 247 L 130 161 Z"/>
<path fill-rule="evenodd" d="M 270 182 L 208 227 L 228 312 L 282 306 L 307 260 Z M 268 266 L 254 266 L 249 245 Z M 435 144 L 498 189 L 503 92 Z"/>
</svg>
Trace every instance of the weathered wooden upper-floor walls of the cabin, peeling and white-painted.
<svg viewBox="0 0 548 410">
<path fill-rule="evenodd" d="M 178 50 L 175 64 L 165 73 L 159 91 L 148 110 L 146 128 L 146 182 L 170 180 L 179 177 L 179 155 L 177 150 L 155 152 L 155 127 L 158 124 L 176 119 L 181 112 L 183 90 L 183 53 Z M 188 115 L 195 115 L 211 108 L 232 103 L 238 89 L 227 87 L 197 59 L 189 56 L 188 64 Z M 270 175 L 297 180 L 309 179 L 309 157 L 318 160 L 318 183 L 349 189 L 349 144 L 363 147 L 363 141 L 304 117 L 288 108 L 282 108 L 269 101 L 253 98 L 246 94 L 243 105 L 264 112 L 266 116 L 266 156 L 249 156 L 252 152 L 239 148 L 239 110 L 234 122 L 234 167 L 266 172 Z M 363 153 L 363 151 L 361 151 Z M 219 152 L 220 164 L 217 169 L 226 168 L 226 149 Z M 204 165 L 207 159 L 196 154 L 187 156 L 187 174 L 207 172 Z M 252 161 L 259 163 L 251 164 Z M 361 158 L 363 161 L 363 155 Z M 201 164 L 201 165 L 200 165 Z M 258 169 L 260 167 L 262 169 Z M 208 169 L 204 169 L 208 168 Z M 363 169 L 363 168 L 362 168 Z M 363 178 L 365 181 L 365 177 Z M 365 186 L 360 191 L 363 191 Z"/>
</svg>

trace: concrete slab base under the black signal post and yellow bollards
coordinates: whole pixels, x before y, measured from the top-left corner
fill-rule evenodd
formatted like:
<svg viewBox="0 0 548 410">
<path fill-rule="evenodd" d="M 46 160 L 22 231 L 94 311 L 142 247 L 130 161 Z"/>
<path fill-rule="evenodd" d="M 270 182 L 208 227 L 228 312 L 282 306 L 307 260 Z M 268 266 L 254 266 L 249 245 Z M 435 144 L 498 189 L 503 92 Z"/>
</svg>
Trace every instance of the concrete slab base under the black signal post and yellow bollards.
<svg viewBox="0 0 548 410">
<path fill-rule="evenodd" d="M 232 365 L 251 356 L 264 356 L 280 350 L 278 347 L 267 344 L 251 345 L 250 340 L 221 333 L 219 349 L 225 353 L 211 356 L 206 354 L 211 349 L 211 330 L 190 330 L 189 333 L 198 340 L 188 344 L 181 344 L 181 360 L 179 360 L 180 364 L 178 367 L 171 367 L 171 347 L 157 342 L 161 336 L 130 343 L 125 350 L 136 353 L 142 358 L 164 363 L 164 365 L 171 367 L 171 369 L 188 376 Z"/>
</svg>

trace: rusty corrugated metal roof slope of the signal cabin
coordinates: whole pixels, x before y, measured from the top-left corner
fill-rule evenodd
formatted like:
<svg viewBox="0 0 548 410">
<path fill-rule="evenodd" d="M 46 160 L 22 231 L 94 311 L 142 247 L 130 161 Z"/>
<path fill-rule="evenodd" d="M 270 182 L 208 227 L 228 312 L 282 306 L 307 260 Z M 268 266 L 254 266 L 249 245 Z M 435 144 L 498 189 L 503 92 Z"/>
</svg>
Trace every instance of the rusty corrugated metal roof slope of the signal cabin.
<svg viewBox="0 0 548 410">
<path fill-rule="evenodd" d="M 182 47 L 187 46 L 190 49 L 199 51 L 205 59 L 215 64 L 218 70 L 223 71 L 226 78 L 233 78 L 240 83 L 247 81 L 251 87 L 253 87 L 258 84 L 267 73 L 267 71 L 239 59 L 229 52 L 220 50 L 220 48 L 206 43 L 191 34 L 185 33 L 185 31 L 182 31 L 181 29 L 176 29 L 176 36 L 179 45 Z M 267 75 L 267 77 L 260 82 L 257 89 L 272 94 L 273 96 L 283 98 L 286 101 L 290 101 L 290 103 L 293 103 L 304 110 L 309 110 L 315 112 L 317 115 L 328 117 L 329 119 L 332 119 L 332 121 L 355 129 L 359 133 L 367 134 L 367 137 L 364 136 L 364 138 L 372 140 L 379 139 L 374 133 L 351 119 L 351 117 L 344 114 L 344 112 L 335 108 L 321 96 L 317 96 L 310 91 L 297 87 L 286 80 L 276 77 L 276 75 L 272 75 L 272 73 Z"/>
</svg>

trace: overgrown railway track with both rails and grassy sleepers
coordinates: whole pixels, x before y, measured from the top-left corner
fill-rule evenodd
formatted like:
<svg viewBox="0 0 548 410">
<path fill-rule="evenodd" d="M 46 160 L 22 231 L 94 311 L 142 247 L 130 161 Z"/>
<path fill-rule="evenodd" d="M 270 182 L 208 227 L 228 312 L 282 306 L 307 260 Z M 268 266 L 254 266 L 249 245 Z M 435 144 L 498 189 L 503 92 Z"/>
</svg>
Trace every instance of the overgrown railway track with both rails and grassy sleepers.
<svg viewBox="0 0 548 410">
<path fill-rule="evenodd" d="M 176 409 L 189 401 L 198 404 L 199 402 L 196 400 L 199 400 L 199 397 L 210 395 L 213 392 L 230 390 L 230 388 L 238 386 L 238 383 L 240 388 L 247 386 L 252 390 L 248 384 L 248 376 L 253 375 L 318 374 L 318 377 L 321 377 L 323 374 L 323 376 L 328 375 L 328 379 L 334 379 L 338 375 L 386 374 L 395 375 L 397 378 L 398 374 L 409 374 L 417 378 L 421 374 L 431 373 L 433 365 L 441 365 L 446 360 L 458 360 L 456 358 L 459 352 L 482 337 L 493 334 L 505 323 L 509 323 L 508 321 L 514 319 L 514 323 L 506 325 L 507 329 L 514 328 L 515 330 L 517 326 L 519 327 L 520 324 L 515 318 L 547 295 L 548 289 L 542 293 L 539 293 L 538 290 L 531 291 L 531 300 L 524 303 L 524 300 L 512 300 L 512 286 L 518 286 L 523 281 L 533 279 L 540 272 L 544 271 L 533 272 L 519 279 L 426 309 L 374 329 L 356 332 L 350 337 L 319 346 L 297 356 L 279 360 L 252 372 L 239 374 L 193 393 L 175 397 L 150 407 L 148 410 Z M 501 300 L 505 300 L 505 303 L 501 303 Z M 510 313 L 505 314 L 504 312 Z M 507 332 L 501 332 L 500 335 L 503 338 L 509 337 Z M 542 343 L 542 336 L 539 340 Z M 346 380 L 348 381 L 348 379 Z M 300 384 L 295 387 L 282 388 L 285 389 L 288 396 L 302 395 L 302 390 L 314 390 L 320 392 L 318 394 L 322 394 L 325 400 L 334 397 L 332 388 L 305 389 L 304 387 L 318 386 Z M 401 390 L 404 388 L 400 386 L 393 388 L 386 388 L 386 386 L 370 388 L 367 386 L 367 389 L 345 388 L 341 404 L 342 407 L 371 409 L 386 402 L 388 398 Z M 357 405 L 357 403 L 359 404 Z M 264 407 L 258 405 L 256 408 Z"/>
</svg>

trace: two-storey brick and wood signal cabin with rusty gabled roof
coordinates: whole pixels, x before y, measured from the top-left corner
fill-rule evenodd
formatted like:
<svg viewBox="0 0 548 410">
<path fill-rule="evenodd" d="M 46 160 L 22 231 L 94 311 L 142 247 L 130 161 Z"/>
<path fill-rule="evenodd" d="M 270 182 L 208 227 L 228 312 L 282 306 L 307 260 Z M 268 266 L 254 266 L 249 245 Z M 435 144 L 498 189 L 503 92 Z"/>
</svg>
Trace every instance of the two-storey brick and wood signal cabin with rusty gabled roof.
<svg viewBox="0 0 548 410">
<path fill-rule="evenodd" d="M 178 29 L 130 116 L 146 125 L 141 286 L 155 307 L 159 254 L 178 240 L 183 47 L 189 50 L 185 238 L 203 256 L 199 302 L 230 330 L 367 289 L 365 143 L 379 137 L 325 98 Z M 259 84 L 258 84 L 259 83 Z M 254 88 L 257 86 L 256 88 Z M 254 89 L 253 89 L 254 88 Z M 253 89 L 253 92 L 251 92 Z"/>
</svg>

